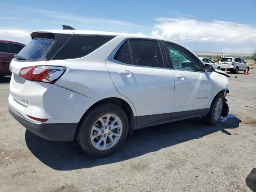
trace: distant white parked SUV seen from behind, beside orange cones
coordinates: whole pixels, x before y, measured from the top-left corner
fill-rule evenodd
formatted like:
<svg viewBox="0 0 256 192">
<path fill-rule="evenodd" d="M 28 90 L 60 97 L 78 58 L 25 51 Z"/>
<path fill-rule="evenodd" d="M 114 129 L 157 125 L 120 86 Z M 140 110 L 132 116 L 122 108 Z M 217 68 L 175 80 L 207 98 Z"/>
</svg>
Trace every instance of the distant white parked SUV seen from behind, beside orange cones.
<svg viewBox="0 0 256 192">
<path fill-rule="evenodd" d="M 249 65 L 242 59 L 238 57 L 223 57 L 219 62 L 221 70 L 227 68 L 228 71 L 233 73 L 238 73 L 238 71 L 243 71 L 245 73 L 246 68 L 250 69 Z"/>
</svg>

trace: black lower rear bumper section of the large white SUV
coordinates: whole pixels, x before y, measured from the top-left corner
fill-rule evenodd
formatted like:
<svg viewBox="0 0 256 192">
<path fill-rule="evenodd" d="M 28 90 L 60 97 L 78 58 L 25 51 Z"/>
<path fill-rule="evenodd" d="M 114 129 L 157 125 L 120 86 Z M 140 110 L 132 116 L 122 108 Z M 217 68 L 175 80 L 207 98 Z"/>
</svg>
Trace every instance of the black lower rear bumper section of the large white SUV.
<svg viewBox="0 0 256 192">
<path fill-rule="evenodd" d="M 73 141 L 78 123 L 35 123 L 9 106 L 10 114 L 32 133 L 51 141 Z"/>
</svg>

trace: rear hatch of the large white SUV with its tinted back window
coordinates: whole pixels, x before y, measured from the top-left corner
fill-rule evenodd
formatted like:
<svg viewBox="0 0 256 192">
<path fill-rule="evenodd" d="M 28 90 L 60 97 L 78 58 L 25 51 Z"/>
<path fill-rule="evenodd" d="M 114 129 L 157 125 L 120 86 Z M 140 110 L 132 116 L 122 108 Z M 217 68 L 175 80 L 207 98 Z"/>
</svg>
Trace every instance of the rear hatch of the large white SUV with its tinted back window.
<svg viewBox="0 0 256 192">
<path fill-rule="evenodd" d="M 32 40 L 18 53 L 18 56 L 10 63 L 12 79 L 10 82 L 11 95 L 27 106 L 23 102 L 24 95 L 29 94 L 28 88 L 24 88 L 26 79 L 19 75 L 21 68 L 28 66 L 43 66 L 46 64 L 72 34 L 53 34 L 53 33 L 38 33 L 31 34 Z"/>
</svg>

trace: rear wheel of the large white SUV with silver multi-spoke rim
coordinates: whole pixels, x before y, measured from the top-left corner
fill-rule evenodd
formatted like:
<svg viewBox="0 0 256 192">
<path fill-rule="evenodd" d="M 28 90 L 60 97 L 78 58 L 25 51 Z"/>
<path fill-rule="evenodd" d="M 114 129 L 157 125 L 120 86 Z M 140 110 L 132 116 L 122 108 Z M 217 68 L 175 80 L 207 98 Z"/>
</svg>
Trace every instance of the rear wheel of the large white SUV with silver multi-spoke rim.
<svg viewBox="0 0 256 192">
<path fill-rule="evenodd" d="M 90 156 L 108 156 L 124 144 L 128 134 L 128 118 L 120 106 L 102 104 L 82 117 L 76 141 Z"/>
</svg>

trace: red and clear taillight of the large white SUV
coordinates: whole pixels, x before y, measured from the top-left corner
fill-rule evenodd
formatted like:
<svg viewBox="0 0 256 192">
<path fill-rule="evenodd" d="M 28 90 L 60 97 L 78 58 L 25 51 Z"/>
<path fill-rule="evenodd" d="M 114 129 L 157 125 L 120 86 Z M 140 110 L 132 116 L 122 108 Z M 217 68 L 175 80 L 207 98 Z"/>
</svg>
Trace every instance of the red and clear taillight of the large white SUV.
<svg viewBox="0 0 256 192">
<path fill-rule="evenodd" d="M 20 69 L 20 76 L 27 80 L 54 83 L 66 68 L 56 66 L 30 66 Z"/>
</svg>

